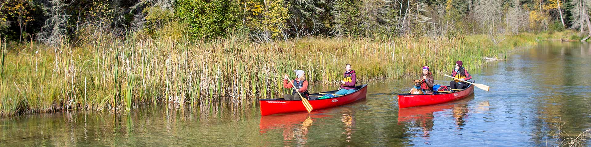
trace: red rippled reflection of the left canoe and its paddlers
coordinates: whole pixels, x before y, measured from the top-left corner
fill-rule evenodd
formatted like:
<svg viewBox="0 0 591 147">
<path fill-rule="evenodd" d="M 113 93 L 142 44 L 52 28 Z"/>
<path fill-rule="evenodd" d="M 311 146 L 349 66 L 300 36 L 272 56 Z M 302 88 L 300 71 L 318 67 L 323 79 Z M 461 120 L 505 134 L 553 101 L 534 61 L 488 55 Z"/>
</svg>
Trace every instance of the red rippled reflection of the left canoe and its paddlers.
<svg viewBox="0 0 591 147">
<path fill-rule="evenodd" d="M 293 146 L 290 143 L 305 145 L 309 138 L 308 132 L 313 123 L 325 123 L 317 121 L 319 119 L 340 117 L 340 122 L 343 122 L 340 128 L 343 129 L 342 134 L 345 135 L 345 141 L 351 142 L 353 127 L 355 127 L 355 113 L 353 113 L 352 109 L 342 106 L 332 109 L 321 109 L 312 113 L 287 113 L 283 115 L 261 116 L 259 128 L 261 129 L 261 133 L 271 132 L 274 129 L 283 131 L 282 136 L 285 146 Z"/>
</svg>

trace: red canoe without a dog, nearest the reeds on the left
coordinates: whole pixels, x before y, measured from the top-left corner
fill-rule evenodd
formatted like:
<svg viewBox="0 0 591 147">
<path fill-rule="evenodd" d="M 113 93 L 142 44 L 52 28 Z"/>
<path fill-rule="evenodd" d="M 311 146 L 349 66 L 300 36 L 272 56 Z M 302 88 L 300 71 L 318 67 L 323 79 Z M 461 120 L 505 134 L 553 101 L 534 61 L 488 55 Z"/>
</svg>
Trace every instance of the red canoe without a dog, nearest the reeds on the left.
<svg viewBox="0 0 591 147">
<path fill-rule="evenodd" d="M 330 108 L 333 106 L 345 105 L 350 102 L 358 101 L 359 99 L 365 98 L 367 94 L 367 84 L 357 86 L 357 91 L 348 95 L 339 96 L 336 98 L 328 99 L 310 99 L 310 105 L 313 110 Z M 336 93 L 337 91 L 327 91 L 322 93 Z M 320 93 L 313 93 L 310 96 L 323 96 Z M 273 115 L 277 113 L 289 113 L 289 112 L 302 112 L 306 111 L 304 104 L 301 100 L 285 100 L 283 98 L 277 99 L 261 99 L 261 115 Z"/>
</svg>

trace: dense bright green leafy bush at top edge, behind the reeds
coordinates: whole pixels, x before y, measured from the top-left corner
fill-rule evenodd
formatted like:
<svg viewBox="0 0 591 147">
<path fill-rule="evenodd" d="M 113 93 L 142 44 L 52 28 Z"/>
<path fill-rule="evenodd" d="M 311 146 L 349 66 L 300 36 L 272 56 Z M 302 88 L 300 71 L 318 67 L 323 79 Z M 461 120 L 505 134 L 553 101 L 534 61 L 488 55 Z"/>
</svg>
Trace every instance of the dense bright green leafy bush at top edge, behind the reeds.
<svg viewBox="0 0 591 147">
<path fill-rule="evenodd" d="M 231 28 L 241 26 L 240 5 L 234 1 L 179 0 L 175 15 L 189 27 L 193 39 L 225 36 Z"/>
</svg>

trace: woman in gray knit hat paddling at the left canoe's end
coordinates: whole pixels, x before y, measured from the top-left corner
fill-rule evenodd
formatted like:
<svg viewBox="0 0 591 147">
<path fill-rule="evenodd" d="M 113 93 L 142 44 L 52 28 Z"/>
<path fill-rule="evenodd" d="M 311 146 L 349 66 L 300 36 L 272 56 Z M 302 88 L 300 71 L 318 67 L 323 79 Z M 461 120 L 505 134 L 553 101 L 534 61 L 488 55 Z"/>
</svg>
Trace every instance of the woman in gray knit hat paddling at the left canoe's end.
<svg viewBox="0 0 591 147">
<path fill-rule="evenodd" d="M 297 94 L 297 92 L 300 92 L 301 96 L 304 96 L 304 98 L 309 98 L 310 93 L 308 93 L 308 81 L 306 81 L 306 72 L 297 69 L 294 72 L 296 72 L 297 78 L 292 81 L 287 80 L 289 77 L 287 74 L 283 76 L 284 88 L 294 88 L 293 85 L 296 86 L 296 88 L 294 88 L 294 91 L 291 92 L 291 95 L 285 95 L 283 96 L 283 98 L 285 100 L 300 100 L 300 96 Z M 293 85 L 291 85 L 290 82 L 293 82 Z"/>
</svg>

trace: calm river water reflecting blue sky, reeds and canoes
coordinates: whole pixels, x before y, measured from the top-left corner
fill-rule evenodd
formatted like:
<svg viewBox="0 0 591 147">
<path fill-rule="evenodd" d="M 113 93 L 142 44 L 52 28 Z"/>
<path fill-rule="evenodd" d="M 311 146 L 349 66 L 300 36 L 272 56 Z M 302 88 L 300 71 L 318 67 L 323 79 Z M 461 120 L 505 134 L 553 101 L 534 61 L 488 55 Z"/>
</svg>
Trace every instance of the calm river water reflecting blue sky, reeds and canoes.
<svg viewBox="0 0 591 147">
<path fill-rule="evenodd" d="M 408 78 L 369 83 L 366 99 L 310 114 L 261 116 L 258 103 L 42 113 L 0 119 L 0 146 L 556 146 L 557 133 L 591 129 L 589 44 L 540 42 L 470 73 L 491 91 L 398 109 Z"/>
</svg>

